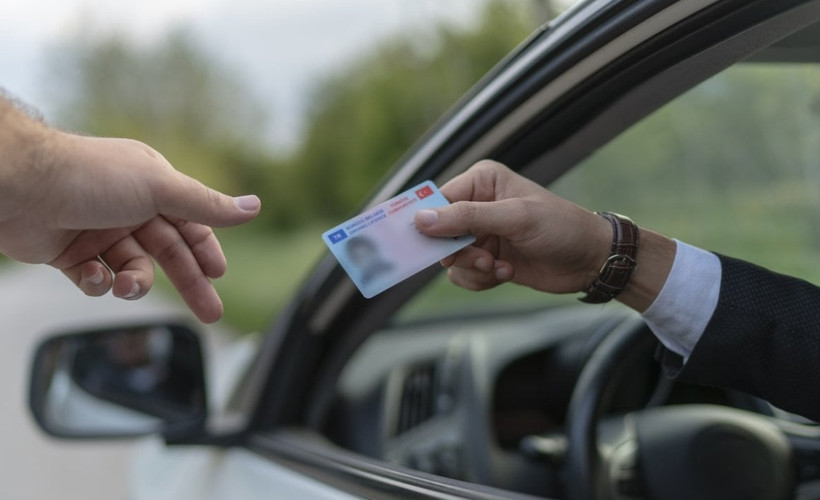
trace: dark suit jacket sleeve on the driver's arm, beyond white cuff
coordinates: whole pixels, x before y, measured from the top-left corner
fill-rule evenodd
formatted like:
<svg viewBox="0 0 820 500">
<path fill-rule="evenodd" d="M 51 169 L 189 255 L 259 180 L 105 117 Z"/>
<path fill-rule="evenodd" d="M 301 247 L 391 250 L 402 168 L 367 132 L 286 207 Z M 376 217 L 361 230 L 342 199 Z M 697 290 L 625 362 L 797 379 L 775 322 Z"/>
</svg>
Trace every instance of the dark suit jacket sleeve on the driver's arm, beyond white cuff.
<svg viewBox="0 0 820 500">
<path fill-rule="evenodd" d="M 748 392 L 820 421 L 820 288 L 719 257 L 714 315 L 685 365 L 663 352 L 667 373 Z"/>
</svg>

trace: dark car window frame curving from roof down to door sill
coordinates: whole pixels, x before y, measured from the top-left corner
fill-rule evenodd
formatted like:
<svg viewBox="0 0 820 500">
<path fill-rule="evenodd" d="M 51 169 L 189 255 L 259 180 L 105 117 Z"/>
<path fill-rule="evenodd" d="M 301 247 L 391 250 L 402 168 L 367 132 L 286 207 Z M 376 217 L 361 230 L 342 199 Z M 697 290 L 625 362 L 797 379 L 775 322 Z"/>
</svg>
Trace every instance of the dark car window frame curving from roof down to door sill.
<svg viewBox="0 0 820 500">
<path fill-rule="evenodd" d="M 819 12 L 818 2 L 800 1 L 583 2 L 502 61 L 408 152 L 368 205 L 425 179 L 445 182 L 481 158 L 549 184 L 677 95 L 811 25 Z M 431 268 L 365 300 L 326 257 L 273 325 L 240 394 L 254 405 L 246 449 L 354 495 L 512 497 L 365 457 L 323 436 L 339 374 L 437 273 Z"/>
</svg>

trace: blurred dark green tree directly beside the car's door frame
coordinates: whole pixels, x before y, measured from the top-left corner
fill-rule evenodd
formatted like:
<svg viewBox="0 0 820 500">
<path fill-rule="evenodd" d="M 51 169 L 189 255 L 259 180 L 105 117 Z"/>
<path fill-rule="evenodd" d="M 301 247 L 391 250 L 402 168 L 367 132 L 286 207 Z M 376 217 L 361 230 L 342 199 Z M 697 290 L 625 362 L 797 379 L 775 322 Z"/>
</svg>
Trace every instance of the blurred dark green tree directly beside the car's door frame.
<svg viewBox="0 0 820 500">
<path fill-rule="evenodd" d="M 313 94 L 295 160 L 322 193 L 318 215 L 338 219 L 464 92 L 535 27 L 518 4 L 489 2 L 476 26 L 405 33 L 328 77 Z"/>
</svg>

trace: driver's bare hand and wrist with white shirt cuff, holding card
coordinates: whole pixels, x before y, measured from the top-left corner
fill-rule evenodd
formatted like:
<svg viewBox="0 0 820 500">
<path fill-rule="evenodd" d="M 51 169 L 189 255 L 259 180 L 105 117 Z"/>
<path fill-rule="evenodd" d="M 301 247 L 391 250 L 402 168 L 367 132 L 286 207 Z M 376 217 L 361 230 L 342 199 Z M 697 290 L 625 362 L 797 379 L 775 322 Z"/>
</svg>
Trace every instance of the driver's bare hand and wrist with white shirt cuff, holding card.
<svg viewBox="0 0 820 500">
<path fill-rule="evenodd" d="M 506 281 L 552 293 L 589 289 L 610 256 L 611 224 L 494 162 L 441 188 L 453 204 L 416 217 L 436 236 L 471 233 L 475 245 L 446 259 L 450 279 L 481 290 Z M 712 253 L 640 230 L 635 267 L 617 300 L 642 312 L 686 360 L 717 305 L 720 261 Z"/>
</svg>

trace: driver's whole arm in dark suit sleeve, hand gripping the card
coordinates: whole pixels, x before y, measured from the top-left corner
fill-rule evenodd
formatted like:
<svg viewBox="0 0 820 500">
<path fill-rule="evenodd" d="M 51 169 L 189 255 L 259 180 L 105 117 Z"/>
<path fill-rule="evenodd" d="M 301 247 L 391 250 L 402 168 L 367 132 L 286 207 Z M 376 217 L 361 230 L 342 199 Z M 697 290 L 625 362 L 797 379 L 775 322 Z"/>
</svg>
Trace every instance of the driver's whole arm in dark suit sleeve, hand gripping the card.
<svg viewBox="0 0 820 500">
<path fill-rule="evenodd" d="M 498 163 L 481 162 L 441 191 L 453 203 L 415 222 L 432 236 L 476 235 L 442 262 L 464 288 L 511 281 L 584 292 L 610 255 L 608 221 Z M 645 228 L 636 261 L 617 300 L 644 314 L 669 374 L 820 420 L 820 288 Z"/>
</svg>

